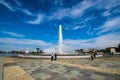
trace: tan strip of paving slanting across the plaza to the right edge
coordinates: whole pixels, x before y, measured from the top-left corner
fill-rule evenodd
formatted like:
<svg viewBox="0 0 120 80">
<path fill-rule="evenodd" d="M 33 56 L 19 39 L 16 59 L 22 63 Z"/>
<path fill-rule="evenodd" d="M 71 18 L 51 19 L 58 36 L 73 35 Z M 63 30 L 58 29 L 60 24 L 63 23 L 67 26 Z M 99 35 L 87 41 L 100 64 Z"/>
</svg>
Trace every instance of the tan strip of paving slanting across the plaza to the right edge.
<svg viewBox="0 0 120 80">
<path fill-rule="evenodd" d="M 44 60 L 44 61 L 51 63 L 50 60 Z M 111 69 L 109 67 L 98 67 L 98 66 L 95 67 L 95 66 L 91 66 L 90 64 L 85 66 L 85 65 L 82 65 L 82 64 L 78 64 L 78 63 L 76 64 L 75 60 L 73 60 L 72 63 L 70 63 L 69 61 L 65 62 L 65 61 L 62 61 L 62 60 L 54 61 L 53 63 L 56 63 L 58 65 L 61 64 L 61 65 L 66 65 L 66 66 L 71 66 L 71 67 L 78 67 L 80 69 L 94 70 L 94 71 L 103 72 L 103 73 L 120 74 L 120 69 Z"/>
</svg>

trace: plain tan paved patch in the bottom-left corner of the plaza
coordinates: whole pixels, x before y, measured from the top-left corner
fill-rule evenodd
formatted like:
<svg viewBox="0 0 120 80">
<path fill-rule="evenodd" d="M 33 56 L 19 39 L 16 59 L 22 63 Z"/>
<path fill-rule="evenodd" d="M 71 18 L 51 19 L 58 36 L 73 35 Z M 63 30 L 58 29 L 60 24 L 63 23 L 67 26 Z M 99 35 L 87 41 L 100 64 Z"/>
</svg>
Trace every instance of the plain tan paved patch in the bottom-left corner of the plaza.
<svg viewBox="0 0 120 80">
<path fill-rule="evenodd" d="M 17 65 L 12 58 L 4 58 L 3 80 L 34 80 L 26 71 Z"/>
</svg>

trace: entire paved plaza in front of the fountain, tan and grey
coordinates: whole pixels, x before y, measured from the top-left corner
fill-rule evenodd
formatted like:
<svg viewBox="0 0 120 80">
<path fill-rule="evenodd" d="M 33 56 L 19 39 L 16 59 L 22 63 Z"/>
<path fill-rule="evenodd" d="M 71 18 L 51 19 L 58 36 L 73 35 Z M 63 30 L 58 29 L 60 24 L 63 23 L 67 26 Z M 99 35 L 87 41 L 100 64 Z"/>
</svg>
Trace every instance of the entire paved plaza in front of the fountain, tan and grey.
<svg viewBox="0 0 120 80">
<path fill-rule="evenodd" d="M 13 67 L 13 68 L 12 68 Z M 9 68 L 9 69 L 8 69 Z M 18 73 L 13 70 L 19 69 Z M 13 69 L 13 70 L 12 70 Z M 8 70 L 11 70 L 8 73 Z M 14 74 L 12 74 L 14 73 Z M 14 78 L 23 73 L 26 77 Z M 12 77 L 12 78 L 11 78 Z M 22 79 L 21 79 L 22 78 Z M 86 59 L 4 58 L 4 80 L 120 80 L 120 56 Z"/>
</svg>

